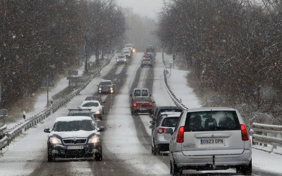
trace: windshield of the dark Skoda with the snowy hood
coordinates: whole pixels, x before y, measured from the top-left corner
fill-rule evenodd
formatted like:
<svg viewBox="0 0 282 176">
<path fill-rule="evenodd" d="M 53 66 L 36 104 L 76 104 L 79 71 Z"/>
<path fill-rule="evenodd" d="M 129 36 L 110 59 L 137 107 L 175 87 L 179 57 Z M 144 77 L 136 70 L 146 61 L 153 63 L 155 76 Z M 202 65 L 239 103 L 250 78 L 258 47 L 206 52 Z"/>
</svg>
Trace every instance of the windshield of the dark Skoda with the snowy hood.
<svg viewBox="0 0 282 176">
<path fill-rule="evenodd" d="M 93 131 L 94 126 L 91 120 L 59 121 L 54 125 L 54 131 Z M 86 136 L 87 137 L 87 136 Z"/>
</svg>

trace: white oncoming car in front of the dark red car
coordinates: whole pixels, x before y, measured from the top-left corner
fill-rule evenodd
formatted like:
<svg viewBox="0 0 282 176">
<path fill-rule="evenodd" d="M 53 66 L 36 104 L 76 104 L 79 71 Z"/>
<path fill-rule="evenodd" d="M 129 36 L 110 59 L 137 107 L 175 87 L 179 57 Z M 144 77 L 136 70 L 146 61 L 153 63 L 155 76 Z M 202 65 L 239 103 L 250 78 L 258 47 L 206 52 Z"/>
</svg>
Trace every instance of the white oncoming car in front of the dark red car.
<svg viewBox="0 0 282 176">
<path fill-rule="evenodd" d="M 102 120 L 102 106 L 97 100 L 86 100 L 83 101 L 80 105 L 81 109 L 91 109 L 91 113 L 94 115 L 95 118 Z"/>
</svg>

